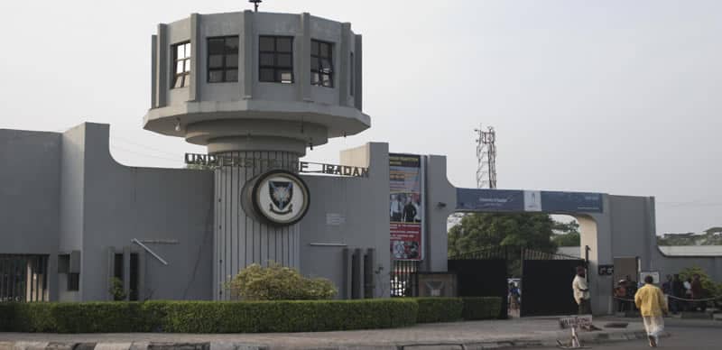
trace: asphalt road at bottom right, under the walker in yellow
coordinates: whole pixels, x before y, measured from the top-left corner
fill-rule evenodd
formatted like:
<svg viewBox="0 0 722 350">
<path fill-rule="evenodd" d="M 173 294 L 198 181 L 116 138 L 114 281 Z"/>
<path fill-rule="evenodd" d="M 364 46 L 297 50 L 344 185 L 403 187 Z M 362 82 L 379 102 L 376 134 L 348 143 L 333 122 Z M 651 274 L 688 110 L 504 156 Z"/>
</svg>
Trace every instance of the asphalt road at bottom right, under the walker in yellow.
<svg viewBox="0 0 722 350">
<path fill-rule="evenodd" d="M 665 328 L 670 337 L 660 339 L 658 348 L 662 349 L 693 349 L 693 350 L 719 350 L 722 349 L 722 325 L 720 326 L 692 326 L 675 325 Z M 614 342 L 599 345 L 590 345 L 592 349 L 649 349 L 647 340 L 633 340 L 628 342 Z M 549 349 L 555 349 L 551 347 Z"/>
</svg>

